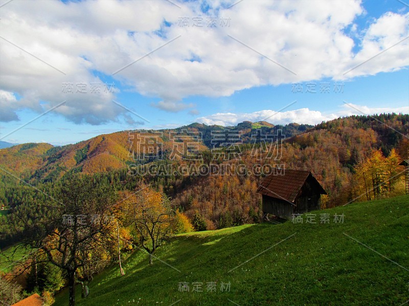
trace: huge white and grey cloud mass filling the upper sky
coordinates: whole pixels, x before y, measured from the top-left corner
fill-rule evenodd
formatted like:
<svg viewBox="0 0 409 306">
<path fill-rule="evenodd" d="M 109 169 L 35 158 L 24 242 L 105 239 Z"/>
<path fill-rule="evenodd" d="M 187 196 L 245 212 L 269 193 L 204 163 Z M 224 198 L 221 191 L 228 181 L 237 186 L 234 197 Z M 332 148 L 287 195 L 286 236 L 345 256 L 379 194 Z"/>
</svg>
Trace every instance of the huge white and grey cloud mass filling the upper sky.
<svg viewBox="0 0 409 306">
<path fill-rule="evenodd" d="M 118 120 L 125 110 L 112 103 L 117 92 L 91 88 L 104 84 L 100 74 L 161 98 L 152 107 L 178 112 L 194 107 L 182 101 L 189 96 L 229 96 L 255 86 L 348 79 L 408 65 L 408 14 L 374 20 L 354 54 L 344 30 L 363 13 L 357 0 L 243 1 L 230 9 L 233 1 L 207 3 L 207 12 L 201 2 L 178 2 L 180 8 L 166 1 L 7 4 L 0 89 L 21 98 L 1 98 L 1 120 L 64 100 L 55 112 L 75 123 Z M 184 16 L 189 27 L 181 26 Z M 193 25 L 198 16 L 201 27 Z M 215 27 L 207 27 L 211 18 Z M 384 50 L 387 56 L 376 56 Z M 62 90 L 66 83 L 73 92 Z M 78 84 L 87 85 L 86 93 L 77 91 Z"/>
</svg>

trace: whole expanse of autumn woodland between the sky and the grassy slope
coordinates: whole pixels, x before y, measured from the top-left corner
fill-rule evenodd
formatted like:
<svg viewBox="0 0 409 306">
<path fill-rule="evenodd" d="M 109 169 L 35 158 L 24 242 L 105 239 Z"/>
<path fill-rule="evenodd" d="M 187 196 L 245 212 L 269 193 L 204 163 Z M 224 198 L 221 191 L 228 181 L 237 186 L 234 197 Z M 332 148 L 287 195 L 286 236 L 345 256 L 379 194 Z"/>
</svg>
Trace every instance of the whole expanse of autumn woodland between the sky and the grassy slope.
<svg viewBox="0 0 409 306">
<path fill-rule="evenodd" d="M 117 262 L 119 251 L 126 258 L 134 247 L 144 249 L 152 262 L 156 249 L 168 248 L 175 234 L 261 223 L 257 189 L 278 170 L 311 171 L 328 194 L 322 209 L 404 194 L 399 163 L 409 156 L 408 131 L 409 115 L 391 114 L 316 126 L 194 123 L 100 135 L 63 147 L 29 143 L 2 149 L 1 273 L 5 279 L 21 274 L 24 288 L 50 297 L 68 286 L 73 298 L 76 282 L 89 284 Z M 359 224 L 368 222 L 360 215 Z M 72 238 L 70 258 L 59 247 L 67 245 L 66 237 Z M 22 259 L 31 249 L 35 256 Z"/>
</svg>

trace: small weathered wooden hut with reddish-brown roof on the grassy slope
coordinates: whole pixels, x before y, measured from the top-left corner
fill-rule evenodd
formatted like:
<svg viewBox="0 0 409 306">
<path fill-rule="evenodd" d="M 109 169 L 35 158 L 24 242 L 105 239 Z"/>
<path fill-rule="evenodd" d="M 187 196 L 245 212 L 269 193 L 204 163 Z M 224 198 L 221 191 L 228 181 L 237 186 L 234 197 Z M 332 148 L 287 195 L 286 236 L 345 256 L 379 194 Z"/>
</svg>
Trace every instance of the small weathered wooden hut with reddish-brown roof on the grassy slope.
<svg viewBox="0 0 409 306">
<path fill-rule="evenodd" d="M 263 196 L 263 219 L 272 214 L 287 220 L 292 214 L 319 210 L 321 195 L 327 194 L 310 171 L 289 169 L 266 176 L 257 192 Z"/>
</svg>

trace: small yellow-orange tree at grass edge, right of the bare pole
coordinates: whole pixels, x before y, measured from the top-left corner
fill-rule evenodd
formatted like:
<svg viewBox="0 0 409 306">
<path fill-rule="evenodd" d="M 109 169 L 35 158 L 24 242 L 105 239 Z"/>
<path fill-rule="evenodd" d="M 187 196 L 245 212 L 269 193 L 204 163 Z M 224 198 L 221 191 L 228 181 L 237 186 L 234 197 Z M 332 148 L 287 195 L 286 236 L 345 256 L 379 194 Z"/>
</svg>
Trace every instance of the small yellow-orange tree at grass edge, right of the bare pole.
<svg viewBox="0 0 409 306">
<path fill-rule="evenodd" d="M 146 185 L 138 192 L 125 192 L 124 196 L 121 204 L 123 223 L 133 228 L 152 264 L 153 253 L 172 234 L 170 200 Z"/>
</svg>

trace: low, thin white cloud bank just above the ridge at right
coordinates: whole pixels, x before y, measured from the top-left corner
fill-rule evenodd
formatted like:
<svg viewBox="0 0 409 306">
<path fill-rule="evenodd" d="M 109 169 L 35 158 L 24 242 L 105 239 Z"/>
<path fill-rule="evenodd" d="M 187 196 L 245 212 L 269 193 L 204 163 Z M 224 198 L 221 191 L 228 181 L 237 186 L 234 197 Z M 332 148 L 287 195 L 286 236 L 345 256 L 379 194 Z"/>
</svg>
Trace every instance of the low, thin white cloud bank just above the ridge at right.
<svg viewBox="0 0 409 306">
<path fill-rule="evenodd" d="M 196 119 L 199 123 L 205 123 L 208 125 L 217 124 L 223 126 L 236 125 L 237 123 L 243 121 L 267 121 L 273 124 L 288 124 L 288 123 L 299 123 L 299 124 L 317 124 L 322 121 L 328 121 L 340 116 L 350 116 L 350 115 L 373 115 L 381 113 L 409 113 L 409 107 L 400 108 L 369 108 L 360 105 L 344 105 L 342 110 L 335 114 L 325 114 L 320 111 L 313 111 L 308 108 L 302 108 L 298 110 L 286 111 L 286 112 L 276 112 L 274 110 L 262 110 L 253 113 L 217 113 L 210 116 L 199 117 Z"/>
</svg>

